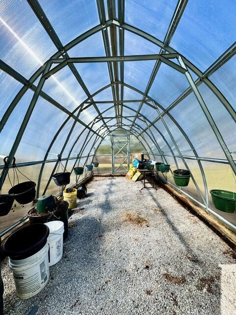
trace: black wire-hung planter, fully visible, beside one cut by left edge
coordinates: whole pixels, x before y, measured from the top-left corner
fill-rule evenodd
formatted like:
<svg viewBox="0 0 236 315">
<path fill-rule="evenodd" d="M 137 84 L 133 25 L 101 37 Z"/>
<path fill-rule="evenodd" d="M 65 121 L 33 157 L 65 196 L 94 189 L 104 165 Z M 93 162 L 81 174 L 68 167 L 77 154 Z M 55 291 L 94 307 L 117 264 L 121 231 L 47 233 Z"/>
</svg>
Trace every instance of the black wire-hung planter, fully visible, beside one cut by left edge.
<svg viewBox="0 0 236 315">
<path fill-rule="evenodd" d="M 34 182 L 23 182 L 13 186 L 8 193 L 13 194 L 16 201 L 22 205 L 25 205 L 35 198 L 36 190 L 35 190 L 36 183 Z"/>
</svg>

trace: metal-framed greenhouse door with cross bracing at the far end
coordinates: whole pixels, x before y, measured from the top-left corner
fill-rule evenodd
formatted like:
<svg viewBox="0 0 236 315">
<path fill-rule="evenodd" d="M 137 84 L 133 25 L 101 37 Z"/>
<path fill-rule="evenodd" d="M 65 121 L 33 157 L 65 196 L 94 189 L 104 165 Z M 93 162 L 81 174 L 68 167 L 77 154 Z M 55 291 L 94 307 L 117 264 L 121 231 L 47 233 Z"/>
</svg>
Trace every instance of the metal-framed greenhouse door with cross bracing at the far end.
<svg viewBox="0 0 236 315">
<path fill-rule="evenodd" d="M 129 135 L 112 135 L 112 172 L 128 172 L 129 159 Z"/>
</svg>

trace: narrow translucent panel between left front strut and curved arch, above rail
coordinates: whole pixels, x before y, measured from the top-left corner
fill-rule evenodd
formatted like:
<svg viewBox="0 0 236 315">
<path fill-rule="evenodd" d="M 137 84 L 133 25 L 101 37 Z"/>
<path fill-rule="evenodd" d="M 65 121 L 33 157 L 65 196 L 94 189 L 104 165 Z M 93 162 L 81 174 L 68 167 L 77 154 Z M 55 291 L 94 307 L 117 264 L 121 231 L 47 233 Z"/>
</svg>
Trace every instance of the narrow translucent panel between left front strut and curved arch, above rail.
<svg viewBox="0 0 236 315">
<path fill-rule="evenodd" d="M 28 90 L 20 99 L 14 111 L 8 118 L 4 128 L 0 132 L 0 155 L 8 156 L 12 145 L 16 139 L 19 128 L 23 122 L 29 103 L 32 99 L 33 92 Z M 17 158 L 17 157 L 16 157 Z"/>
</svg>

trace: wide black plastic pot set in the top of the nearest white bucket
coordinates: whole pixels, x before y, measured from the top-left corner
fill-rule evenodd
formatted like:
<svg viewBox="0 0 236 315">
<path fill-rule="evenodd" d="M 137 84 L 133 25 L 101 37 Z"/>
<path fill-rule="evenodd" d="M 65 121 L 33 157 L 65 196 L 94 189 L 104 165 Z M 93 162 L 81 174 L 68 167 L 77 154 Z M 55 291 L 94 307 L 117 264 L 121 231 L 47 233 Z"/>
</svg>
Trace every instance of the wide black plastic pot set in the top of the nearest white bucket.
<svg viewBox="0 0 236 315">
<path fill-rule="evenodd" d="M 39 252 L 47 243 L 49 228 L 45 224 L 30 224 L 8 237 L 3 254 L 12 260 L 21 260 Z"/>
</svg>

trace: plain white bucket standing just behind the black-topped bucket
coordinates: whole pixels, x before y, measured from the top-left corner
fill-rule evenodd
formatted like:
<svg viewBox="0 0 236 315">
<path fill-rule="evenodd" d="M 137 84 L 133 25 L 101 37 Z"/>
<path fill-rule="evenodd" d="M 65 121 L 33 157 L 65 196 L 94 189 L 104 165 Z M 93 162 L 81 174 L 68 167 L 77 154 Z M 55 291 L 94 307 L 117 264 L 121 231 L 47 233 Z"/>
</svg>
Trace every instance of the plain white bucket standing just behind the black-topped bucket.
<svg viewBox="0 0 236 315">
<path fill-rule="evenodd" d="M 63 254 L 64 223 L 62 221 L 51 221 L 44 223 L 49 227 L 49 266 L 55 265 Z"/>
</svg>

